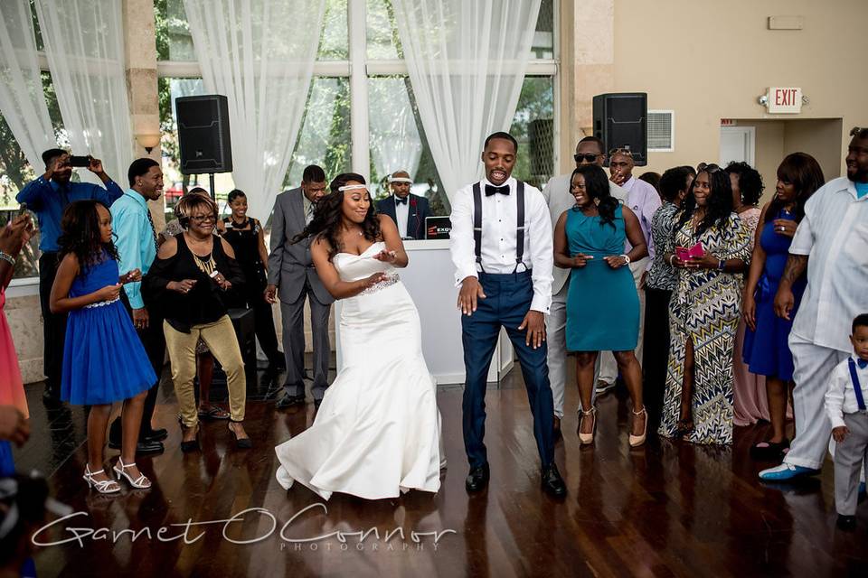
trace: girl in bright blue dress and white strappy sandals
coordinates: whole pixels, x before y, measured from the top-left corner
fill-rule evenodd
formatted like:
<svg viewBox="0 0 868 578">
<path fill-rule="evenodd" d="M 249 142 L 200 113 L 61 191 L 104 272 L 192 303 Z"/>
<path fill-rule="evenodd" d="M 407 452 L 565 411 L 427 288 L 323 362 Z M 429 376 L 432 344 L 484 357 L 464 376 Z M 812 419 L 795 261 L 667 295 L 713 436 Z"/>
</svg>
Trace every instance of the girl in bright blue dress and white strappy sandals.
<svg viewBox="0 0 868 578">
<path fill-rule="evenodd" d="M 123 402 L 123 439 L 113 471 L 137 489 L 151 487 L 138 470 L 136 443 L 142 409 L 156 375 L 123 303 L 123 284 L 141 280 L 139 270 L 118 276 L 118 249 L 111 214 L 95 200 L 73 202 L 61 221 L 61 265 L 52 287 L 52 312 L 69 312 L 63 350 L 61 399 L 90 406 L 88 465 L 84 480 L 100 493 L 120 490 L 104 466 L 103 447 L 111 405 Z"/>
</svg>

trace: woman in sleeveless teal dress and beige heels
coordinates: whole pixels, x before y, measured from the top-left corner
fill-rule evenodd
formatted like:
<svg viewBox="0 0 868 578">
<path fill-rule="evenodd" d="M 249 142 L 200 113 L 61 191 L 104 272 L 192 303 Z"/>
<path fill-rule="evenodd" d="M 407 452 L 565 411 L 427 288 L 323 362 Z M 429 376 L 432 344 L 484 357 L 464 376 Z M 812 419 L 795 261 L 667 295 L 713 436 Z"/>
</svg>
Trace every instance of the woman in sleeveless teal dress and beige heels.
<svg viewBox="0 0 868 578">
<path fill-rule="evenodd" d="M 592 443 L 597 410 L 592 406 L 594 364 L 612 351 L 633 402 L 630 446 L 645 443 L 642 368 L 633 350 L 639 334 L 639 297 L 627 266 L 648 254 L 633 211 L 609 195 L 609 180 L 596 164 L 572 172 L 576 205 L 565 210 L 554 231 L 554 265 L 571 269 L 567 290 L 567 350 L 576 352 L 581 419 L 580 443 Z M 632 248 L 625 254 L 625 243 Z M 590 408 L 590 409 L 589 409 Z"/>
</svg>

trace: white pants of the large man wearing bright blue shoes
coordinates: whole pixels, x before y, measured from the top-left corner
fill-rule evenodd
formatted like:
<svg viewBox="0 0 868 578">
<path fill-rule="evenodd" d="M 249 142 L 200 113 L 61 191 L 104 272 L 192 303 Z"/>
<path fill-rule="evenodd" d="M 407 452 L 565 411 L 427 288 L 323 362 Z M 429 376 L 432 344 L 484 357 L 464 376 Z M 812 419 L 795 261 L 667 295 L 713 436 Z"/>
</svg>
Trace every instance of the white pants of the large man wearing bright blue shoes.
<svg viewBox="0 0 868 578">
<path fill-rule="evenodd" d="M 831 350 L 809 340 L 789 334 L 793 354 L 793 416 L 796 437 L 789 446 L 785 463 L 820 470 L 832 435 L 832 423 L 826 415 L 826 390 L 832 369 L 849 355 Z"/>
</svg>

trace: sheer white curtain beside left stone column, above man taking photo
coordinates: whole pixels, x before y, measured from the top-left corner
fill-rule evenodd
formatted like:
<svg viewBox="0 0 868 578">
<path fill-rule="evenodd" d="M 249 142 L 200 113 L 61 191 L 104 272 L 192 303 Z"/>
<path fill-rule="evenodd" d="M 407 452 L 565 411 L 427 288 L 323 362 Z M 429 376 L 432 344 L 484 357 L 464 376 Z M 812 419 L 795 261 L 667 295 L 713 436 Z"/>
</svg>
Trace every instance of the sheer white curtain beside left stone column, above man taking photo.
<svg viewBox="0 0 868 578">
<path fill-rule="evenodd" d="M 72 154 L 101 159 L 124 187 L 134 149 L 121 3 L 36 0 L 35 6 Z M 99 182 L 90 171 L 79 174 Z"/>
</svg>

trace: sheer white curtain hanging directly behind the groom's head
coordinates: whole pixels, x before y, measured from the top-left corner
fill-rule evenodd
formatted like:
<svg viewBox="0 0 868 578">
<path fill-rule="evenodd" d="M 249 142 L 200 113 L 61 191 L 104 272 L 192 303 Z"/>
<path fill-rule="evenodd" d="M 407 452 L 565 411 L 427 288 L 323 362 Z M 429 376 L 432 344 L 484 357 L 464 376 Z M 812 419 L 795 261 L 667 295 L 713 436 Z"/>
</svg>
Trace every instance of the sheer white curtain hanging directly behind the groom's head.
<svg viewBox="0 0 868 578">
<path fill-rule="evenodd" d="M 540 3 L 392 0 L 422 126 L 449 200 L 481 174 L 486 136 L 509 130 Z"/>
</svg>

